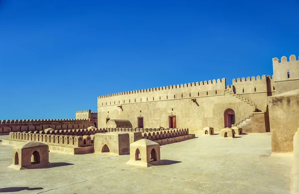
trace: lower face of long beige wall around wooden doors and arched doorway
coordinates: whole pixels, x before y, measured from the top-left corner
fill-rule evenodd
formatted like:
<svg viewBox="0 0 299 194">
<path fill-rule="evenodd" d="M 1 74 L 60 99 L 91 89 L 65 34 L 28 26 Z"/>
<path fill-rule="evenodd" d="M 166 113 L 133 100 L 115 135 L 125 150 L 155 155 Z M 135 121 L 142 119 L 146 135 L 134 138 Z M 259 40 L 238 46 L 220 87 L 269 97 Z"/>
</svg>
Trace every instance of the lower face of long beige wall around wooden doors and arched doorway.
<svg viewBox="0 0 299 194">
<path fill-rule="evenodd" d="M 224 91 L 222 91 L 224 92 Z M 193 102 L 191 99 L 196 99 Z M 102 102 L 102 99 L 98 99 Z M 190 98 L 145 101 L 138 103 L 98 106 L 99 127 L 106 126 L 106 118 L 129 120 L 133 128 L 138 127 L 138 117 L 144 117 L 145 128 L 168 128 L 168 116 L 176 116 L 176 127 L 189 128 L 197 131 L 206 126 L 215 130 L 224 128 L 224 111 L 232 108 L 236 114 L 236 121 L 241 121 L 252 113 L 252 106 L 235 96 L 217 94 Z M 173 110 L 172 110 L 173 109 Z"/>
</svg>

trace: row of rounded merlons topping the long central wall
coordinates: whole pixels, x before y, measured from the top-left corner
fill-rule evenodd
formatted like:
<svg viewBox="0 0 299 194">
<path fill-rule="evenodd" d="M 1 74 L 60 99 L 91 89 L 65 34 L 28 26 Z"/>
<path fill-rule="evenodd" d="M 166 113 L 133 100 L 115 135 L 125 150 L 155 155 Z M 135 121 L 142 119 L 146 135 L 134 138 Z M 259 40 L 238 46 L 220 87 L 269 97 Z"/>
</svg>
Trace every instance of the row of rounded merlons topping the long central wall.
<svg viewBox="0 0 299 194">
<path fill-rule="evenodd" d="M 217 88 L 217 84 L 224 84 L 224 88 L 225 89 L 225 85 L 226 85 L 226 79 L 222 78 L 222 79 L 217 79 L 217 81 L 214 80 L 209 80 L 209 81 L 204 81 L 204 82 L 192 82 L 192 83 L 188 83 L 188 84 L 178 84 L 178 85 L 173 85 L 173 86 L 163 86 L 163 87 L 156 87 L 156 88 L 149 88 L 149 89 L 142 89 L 142 90 L 135 90 L 135 91 L 128 91 L 128 92 L 120 92 L 120 93 L 115 93 L 115 94 L 108 94 L 108 95 L 103 95 L 103 96 L 99 96 L 98 99 L 102 99 L 102 98 L 109 98 L 109 97 L 114 97 L 114 96 L 122 96 L 122 95 L 130 95 L 130 94 L 140 94 L 140 93 L 148 93 L 148 92 L 155 92 L 155 91 L 161 91 L 161 90 L 171 90 L 171 89 L 183 89 L 183 88 L 188 88 L 188 87 L 193 87 L 193 86 L 199 86 L 202 87 L 202 90 L 208 90 L 209 88 L 207 86 L 211 86 L 211 84 L 215 84 L 214 89 L 219 89 Z M 210 87 L 212 88 L 212 87 Z"/>
</svg>

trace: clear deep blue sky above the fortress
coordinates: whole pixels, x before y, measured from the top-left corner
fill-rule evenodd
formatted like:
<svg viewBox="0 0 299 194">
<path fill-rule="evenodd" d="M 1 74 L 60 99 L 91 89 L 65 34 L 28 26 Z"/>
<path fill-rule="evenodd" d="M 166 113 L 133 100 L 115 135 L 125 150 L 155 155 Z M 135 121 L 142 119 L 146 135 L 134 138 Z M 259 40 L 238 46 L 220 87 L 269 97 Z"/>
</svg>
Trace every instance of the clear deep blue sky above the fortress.
<svg viewBox="0 0 299 194">
<path fill-rule="evenodd" d="M 0 120 L 75 118 L 100 95 L 273 74 L 298 0 L 0 0 Z"/>
</svg>

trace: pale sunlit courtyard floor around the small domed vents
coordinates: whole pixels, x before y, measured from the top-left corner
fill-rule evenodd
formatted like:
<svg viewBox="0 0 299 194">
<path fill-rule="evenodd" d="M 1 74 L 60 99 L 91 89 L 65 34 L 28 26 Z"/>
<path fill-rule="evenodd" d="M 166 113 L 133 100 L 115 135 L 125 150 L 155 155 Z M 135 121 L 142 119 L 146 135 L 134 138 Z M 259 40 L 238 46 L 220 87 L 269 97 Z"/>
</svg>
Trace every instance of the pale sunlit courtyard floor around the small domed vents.
<svg viewBox="0 0 299 194">
<path fill-rule="evenodd" d="M 221 139 L 195 133 L 161 146 L 165 165 L 127 165 L 130 156 L 50 153 L 52 168 L 13 170 L 0 145 L 2 194 L 290 194 L 292 154 L 271 155 L 271 135 Z M 1 139 L 8 136 L 0 136 Z"/>
</svg>

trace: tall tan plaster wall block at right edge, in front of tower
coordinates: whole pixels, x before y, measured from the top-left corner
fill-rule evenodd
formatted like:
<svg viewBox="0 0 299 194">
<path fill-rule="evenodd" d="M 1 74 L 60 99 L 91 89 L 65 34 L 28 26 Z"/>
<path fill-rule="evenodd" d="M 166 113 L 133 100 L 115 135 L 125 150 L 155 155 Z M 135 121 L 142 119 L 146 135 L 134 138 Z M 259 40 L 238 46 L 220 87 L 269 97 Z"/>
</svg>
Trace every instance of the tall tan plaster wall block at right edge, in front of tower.
<svg viewBox="0 0 299 194">
<path fill-rule="evenodd" d="M 293 152 L 299 127 L 299 90 L 268 97 L 272 152 Z"/>
</svg>

